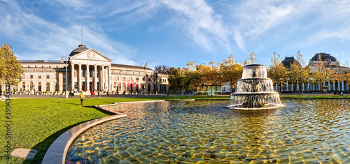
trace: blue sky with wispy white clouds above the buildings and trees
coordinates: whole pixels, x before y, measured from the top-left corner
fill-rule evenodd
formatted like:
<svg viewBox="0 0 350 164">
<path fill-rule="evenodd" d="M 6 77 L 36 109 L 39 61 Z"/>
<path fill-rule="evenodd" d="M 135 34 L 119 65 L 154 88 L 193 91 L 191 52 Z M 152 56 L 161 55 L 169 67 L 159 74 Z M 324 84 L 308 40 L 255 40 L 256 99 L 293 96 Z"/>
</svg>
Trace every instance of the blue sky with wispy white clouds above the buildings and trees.
<svg viewBox="0 0 350 164">
<path fill-rule="evenodd" d="M 60 60 L 81 43 L 114 64 L 184 67 L 251 52 L 269 66 L 273 52 L 300 50 L 309 62 L 350 59 L 350 2 L 322 0 L 0 0 L 0 44 L 18 59 Z"/>
</svg>

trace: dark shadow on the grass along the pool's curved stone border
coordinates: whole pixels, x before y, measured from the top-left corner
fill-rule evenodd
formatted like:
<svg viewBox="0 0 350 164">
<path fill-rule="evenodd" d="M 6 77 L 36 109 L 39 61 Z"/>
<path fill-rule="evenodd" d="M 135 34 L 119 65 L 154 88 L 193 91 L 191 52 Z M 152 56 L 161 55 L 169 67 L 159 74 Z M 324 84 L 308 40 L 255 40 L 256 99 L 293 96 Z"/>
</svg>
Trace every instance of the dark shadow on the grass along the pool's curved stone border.
<svg viewBox="0 0 350 164">
<path fill-rule="evenodd" d="M 61 103 L 61 102 L 57 102 L 57 103 Z M 71 103 L 71 104 L 73 104 L 73 103 Z M 74 105 L 76 105 L 76 104 L 74 104 Z M 93 108 L 93 109 L 99 110 L 99 109 L 97 109 L 96 107 L 94 107 L 92 105 L 84 106 L 84 107 Z M 101 111 L 101 110 L 99 110 L 99 111 L 103 112 L 104 114 L 111 115 L 111 113 L 109 113 L 109 112 L 104 112 L 104 111 Z M 87 120 L 87 121 L 91 121 L 91 120 Z M 23 163 L 28 163 L 28 164 L 29 163 L 39 163 L 40 164 L 41 161 L 43 161 L 43 156 L 45 156 L 46 151 L 48 150 L 48 148 L 50 147 L 52 142 L 54 142 L 57 139 L 57 137 L 59 137 L 59 135 L 62 135 L 64 132 L 68 131 L 70 128 L 73 128 L 74 126 L 78 126 L 79 124 L 83 124 L 84 122 L 86 122 L 86 121 L 82 121 L 82 122 L 79 122 L 77 124 L 73 124 L 71 126 L 67 126 L 66 128 L 63 128 L 63 129 L 57 131 L 56 133 L 53 133 L 49 137 L 46 137 L 45 140 L 43 140 L 42 142 L 36 144 L 34 147 L 31 148 L 31 149 L 38 150 L 38 153 L 36 153 L 35 157 L 33 159 L 31 159 L 31 160 L 26 159 Z"/>
</svg>

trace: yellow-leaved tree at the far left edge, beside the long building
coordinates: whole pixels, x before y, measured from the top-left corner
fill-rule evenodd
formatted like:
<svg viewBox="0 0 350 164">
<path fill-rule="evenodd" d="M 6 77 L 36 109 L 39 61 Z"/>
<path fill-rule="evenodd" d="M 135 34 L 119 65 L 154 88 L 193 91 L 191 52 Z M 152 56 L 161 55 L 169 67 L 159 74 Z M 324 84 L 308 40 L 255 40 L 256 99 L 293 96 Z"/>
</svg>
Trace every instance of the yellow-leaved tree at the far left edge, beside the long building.
<svg viewBox="0 0 350 164">
<path fill-rule="evenodd" d="M 20 61 L 13 54 L 12 46 L 7 44 L 1 45 L 0 57 L 1 80 L 9 87 L 18 85 L 25 70 L 22 69 Z"/>
</svg>

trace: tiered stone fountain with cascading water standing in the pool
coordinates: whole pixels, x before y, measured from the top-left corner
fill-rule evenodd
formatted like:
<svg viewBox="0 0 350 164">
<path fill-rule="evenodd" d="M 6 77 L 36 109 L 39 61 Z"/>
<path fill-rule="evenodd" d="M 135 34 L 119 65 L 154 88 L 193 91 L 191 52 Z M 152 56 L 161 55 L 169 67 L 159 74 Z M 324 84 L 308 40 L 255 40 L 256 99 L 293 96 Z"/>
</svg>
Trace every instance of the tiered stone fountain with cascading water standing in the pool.
<svg viewBox="0 0 350 164">
<path fill-rule="evenodd" d="M 236 92 L 231 95 L 228 107 L 239 110 L 260 110 L 281 107 L 279 93 L 274 91 L 272 80 L 267 78 L 265 66 L 244 66 Z"/>
</svg>

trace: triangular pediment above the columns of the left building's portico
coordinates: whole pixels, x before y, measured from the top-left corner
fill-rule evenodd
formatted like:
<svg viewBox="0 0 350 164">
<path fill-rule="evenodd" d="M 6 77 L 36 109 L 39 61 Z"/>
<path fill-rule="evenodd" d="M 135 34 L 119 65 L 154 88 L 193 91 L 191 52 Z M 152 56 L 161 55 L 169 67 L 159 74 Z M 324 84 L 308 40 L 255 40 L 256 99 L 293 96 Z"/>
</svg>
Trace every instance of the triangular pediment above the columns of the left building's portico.
<svg viewBox="0 0 350 164">
<path fill-rule="evenodd" d="M 97 50 L 94 50 L 92 48 L 74 55 L 73 57 L 71 57 L 71 59 L 112 62 L 112 59 L 109 59 L 108 57 L 104 56 L 104 54 L 101 54 L 100 52 L 97 52 Z"/>
</svg>

